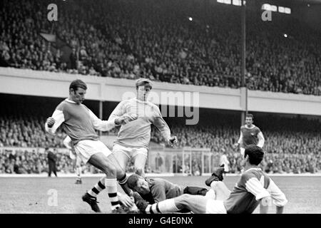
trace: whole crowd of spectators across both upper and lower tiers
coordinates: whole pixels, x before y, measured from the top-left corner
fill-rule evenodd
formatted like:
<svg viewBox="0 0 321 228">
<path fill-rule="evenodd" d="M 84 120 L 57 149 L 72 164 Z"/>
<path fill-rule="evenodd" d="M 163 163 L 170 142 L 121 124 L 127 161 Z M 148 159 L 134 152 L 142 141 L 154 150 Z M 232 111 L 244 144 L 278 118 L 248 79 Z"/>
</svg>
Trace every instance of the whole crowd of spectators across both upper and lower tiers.
<svg viewBox="0 0 321 228">
<path fill-rule="evenodd" d="M 194 0 L 71 0 L 58 4 L 58 21 L 51 22 L 46 11 L 50 3 L 0 1 L 1 66 L 240 87 L 237 6 L 208 7 Z M 189 16 L 193 19 L 188 20 Z M 264 23 L 249 11 L 247 21 L 248 88 L 321 95 L 320 33 L 285 14 L 273 14 L 273 21 Z M 46 41 L 40 33 L 56 34 L 57 42 Z M 284 33 L 288 34 L 286 38 Z M 58 46 L 58 41 L 68 48 Z M 0 147 L 63 147 L 65 134 L 58 131 L 56 137 L 46 135 L 42 115 L 8 113 L 0 118 Z M 178 136 L 178 147 L 224 151 L 230 160 L 230 172 L 240 172 L 241 158 L 233 147 L 239 123 L 219 122 L 193 127 L 172 124 L 171 130 Z M 297 128 L 291 129 L 289 120 L 279 122 L 273 127 L 258 125 L 266 139 L 264 169 L 320 171 L 320 133 L 307 130 L 320 129 L 320 123 L 312 123 L 312 128 L 311 122 L 302 121 L 307 126 L 299 121 L 295 123 Z M 156 130 L 151 139 L 162 143 Z M 58 170 L 73 170 L 68 155 L 61 154 L 58 160 Z M 43 172 L 46 166 L 46 156 L 36 152 L 22 150 L 19 155 L 0 157 L 0 172 Z"/>
</svg>

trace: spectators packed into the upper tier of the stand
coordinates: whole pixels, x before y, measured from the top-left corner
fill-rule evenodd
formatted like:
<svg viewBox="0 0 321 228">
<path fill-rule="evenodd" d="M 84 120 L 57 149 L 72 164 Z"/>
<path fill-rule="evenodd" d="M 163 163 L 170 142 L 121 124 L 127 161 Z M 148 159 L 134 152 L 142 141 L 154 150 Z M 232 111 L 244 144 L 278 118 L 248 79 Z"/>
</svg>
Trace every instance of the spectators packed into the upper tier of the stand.
<svg viewBox="0 0 321 228">
<path fill-rule="evenodd" d="M 16 68 L 239 88 L 240 7 L 198 1 L 1 1 L 0 53 Z M 247 16 L 251 90 L 321 95 L 320 33 L 289 15 Z M 191 21 L 188 20 L 189 16 Z M 227 20 L 228 18 L 228 20 Z M 54 33 L 69 48 L 39 33 Z M 285 38 L 284 33 L 289 36 Z"/>
</svg>

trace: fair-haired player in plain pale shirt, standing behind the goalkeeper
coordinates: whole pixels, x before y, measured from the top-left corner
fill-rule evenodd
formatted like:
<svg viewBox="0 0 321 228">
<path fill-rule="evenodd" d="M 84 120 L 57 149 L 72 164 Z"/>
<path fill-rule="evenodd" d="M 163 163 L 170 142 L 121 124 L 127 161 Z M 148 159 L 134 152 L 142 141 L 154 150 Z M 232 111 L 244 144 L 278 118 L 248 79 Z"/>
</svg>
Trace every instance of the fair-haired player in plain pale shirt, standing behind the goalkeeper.
<svg viewBox="0 0 321 228">
<path fill-rule="evenodd" d="M 136 173 L 142 177 L 145 177 L 148 144 L 151 140 L 151 125 L 155 125 L 161 131 L 163 138 L 170 145 L 177 142 L 176 136 L 170 136 L 170 128 L 163 120 L 158 106 L 147 101 L 151 88 L 150 80 L 138 78 L 136 81 L 136 98 L 121 101 L 108 118 L 108 121 L 113 122 L 122 115 L 136 115 L 138 117 L 135 121 L 121 125 L 113 144 L 113 155 L 123 170 L 126 170 L 128 161 L 133 160 Z M 126 181 L 118 182 L 121 186 L 126 186 Z M 93 187 L 97 194 L 103 190 L 98 187 L 98 184 Z M 128 194 L 128 192 L 126 193 Z M 132 192 L 128 195 L 132 195 Z"/>
</svg>

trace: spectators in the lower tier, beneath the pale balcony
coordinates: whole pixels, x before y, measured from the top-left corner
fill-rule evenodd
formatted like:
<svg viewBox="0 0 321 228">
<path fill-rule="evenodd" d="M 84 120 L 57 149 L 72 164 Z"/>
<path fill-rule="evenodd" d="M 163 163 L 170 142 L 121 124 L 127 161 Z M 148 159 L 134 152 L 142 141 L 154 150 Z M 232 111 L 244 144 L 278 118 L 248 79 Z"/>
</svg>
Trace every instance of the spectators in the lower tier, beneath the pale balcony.
<svg viewBox="0 0 321 228">
<path fill-rule="evenodd" d="M 211 123 L 200 121 L 198 125 L 183 125 L 179 120 L 166 120 L 173 134 L 178 137 L 177 147 L 206 147 L 213 155 L 225 153 L 230 162 L 230 172 L 242 170 L 242 157 L 234 143 L 238 140 L 240 130 L 235 128 L 238 123 L 225 115 L 212 115 Z M 44 119 L 16 118 L 15 115 L 0 118 L 0 149 L 1 147 L 21 147 L 17 152 L 5 152 L 0 156 L 0 172 L 2 173 L 39 173 L 48 169 L 46 154 L 36 150 L 24 150 L 24 147 L 63 148 L 62 140 L 66 137 L 58 131 L 51 136 L 44 131 Z M 262 167 L 267 172 L 320 172 L 321 171 L 321 135 L 317 130 L 321 123 L 317 120 L 304 118 L 264 118 L 265 122 L 258 126 L 265 136 L 264 150 L 266 152 Z M 203 120 L 204 121 L 204 120 Z M 275 123 L 271 126 L 268 123 Z M 233 127 L 234 126 L 234 127 Z M 310 130 L 308 130 L 310 129 Z M 311 130 L 315 129 L 315 130 Z M 117 129 L 116 129 L 117 130 Z M 113 133 L 116 133 L 113 130 Z M 161 134 L 153 128 L 151 140 L 164 144 Z M 60 172 L 73 172 L 72 161 L 68 153 L 57 153 L 57 169 Z M 178 160 L 181 170 L 182 161 Z M 188 167 L 188 163 L 185 167 Z M 200 160 L 193 159 L 193 173 L 200 174 Z M 146 166 L 148 172 L 151 168 Z M 186 170 L 188 170 L 186 168 Z M 84 172 L 98 172 L 86 166 Z M 128 172 L 133 170 L 133 164 L 128 164 Z M 197 172 L 195 172 L 197 171 Z"/>
</svg>

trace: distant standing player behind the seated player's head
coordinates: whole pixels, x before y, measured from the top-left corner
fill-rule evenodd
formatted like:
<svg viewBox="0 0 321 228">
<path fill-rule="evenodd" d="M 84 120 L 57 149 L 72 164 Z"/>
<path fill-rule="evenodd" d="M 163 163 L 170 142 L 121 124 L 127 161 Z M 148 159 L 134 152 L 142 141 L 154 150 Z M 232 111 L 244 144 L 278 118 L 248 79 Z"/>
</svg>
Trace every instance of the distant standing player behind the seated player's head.
<svg viewBox="0 0 321 228">
<path fill-rule="evenodd" d="M 245 115 L 245 125 L 240 127 L 240 138 L 235 146 L 240 146 L 240 153 L 244 156 L 245 147 L 248 145 L 258 145 L 263 148 L 265 139 L 260 128 L 253 124 L 252 114 Z"/>
</svg>

